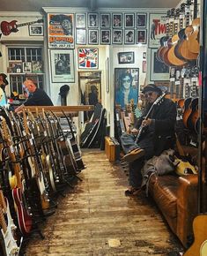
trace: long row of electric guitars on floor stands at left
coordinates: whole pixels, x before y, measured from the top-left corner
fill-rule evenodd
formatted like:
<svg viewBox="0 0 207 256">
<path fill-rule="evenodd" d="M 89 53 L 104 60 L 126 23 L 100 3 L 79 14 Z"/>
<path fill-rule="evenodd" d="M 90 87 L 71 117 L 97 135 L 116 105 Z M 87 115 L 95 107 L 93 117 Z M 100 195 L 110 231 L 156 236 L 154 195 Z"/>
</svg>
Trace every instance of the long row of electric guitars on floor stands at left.
<svg viewBox="0 0 207 256">
<path fill-rule="evenodd" d="M 1 109 L 0 254 L 17 256 L 22 240 L 56 206 L 58 193 L 85 169 L 75 135 L 52 111 L 35 116 Z"/>
</svg>

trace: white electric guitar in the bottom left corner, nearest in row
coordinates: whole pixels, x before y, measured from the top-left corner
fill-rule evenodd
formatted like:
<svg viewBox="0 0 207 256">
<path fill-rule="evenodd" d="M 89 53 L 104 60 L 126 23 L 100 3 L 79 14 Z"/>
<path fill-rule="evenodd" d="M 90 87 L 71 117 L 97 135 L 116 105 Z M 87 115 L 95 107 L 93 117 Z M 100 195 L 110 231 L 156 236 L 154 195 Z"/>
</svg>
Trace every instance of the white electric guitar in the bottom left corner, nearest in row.
<svg viewBox="0 0 207 256">
<path fill-rule="evenodd" d="M 1 210 L 2 214 L 2 210 Z M 4 218 L 4 215 L 1 215 Z M 13 219 L 11 218 L 11 212 L 9 207 L 9 202 L 6 199 L 6 217 L 7 217 L 7 227 L 1 230 L 4 237 L 4 249 L 7 256 L 18 256 L 19 247 L 17 241 L 13 237 L 14 231 L 17 227 L 14 225 Z"/>
</svg>

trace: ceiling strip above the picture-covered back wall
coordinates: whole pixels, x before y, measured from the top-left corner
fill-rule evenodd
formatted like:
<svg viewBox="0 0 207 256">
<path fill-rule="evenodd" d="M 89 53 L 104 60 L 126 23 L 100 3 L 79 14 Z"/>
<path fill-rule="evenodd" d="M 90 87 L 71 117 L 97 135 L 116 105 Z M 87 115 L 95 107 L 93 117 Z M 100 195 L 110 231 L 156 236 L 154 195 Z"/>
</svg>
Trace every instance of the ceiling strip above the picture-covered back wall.
<svg viewBox="0 0 207 256">
<path fill-rule="evenodd" d="M 1 0 L 0 11 L 42 11 L 42 7 L 173 8 L 180 0 Z"/>
</svg>

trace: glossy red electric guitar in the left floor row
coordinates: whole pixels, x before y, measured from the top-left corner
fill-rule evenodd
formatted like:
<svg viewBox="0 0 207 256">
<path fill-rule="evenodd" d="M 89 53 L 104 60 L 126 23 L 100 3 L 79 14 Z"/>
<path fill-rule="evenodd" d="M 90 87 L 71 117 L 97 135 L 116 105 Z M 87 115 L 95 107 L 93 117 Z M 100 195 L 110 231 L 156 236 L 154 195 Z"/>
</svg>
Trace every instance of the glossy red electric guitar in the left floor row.
<svg viewBox="0 0 207 256">
<path fill-rule="evenodd" d="M 18 215 L 18 227 L 22 234 L 26 235 L 32 229 L 32 218 L 30 215 L 27 215 L 22 201 L 22 193 L 20 188 L 14 188 L 12 190 L 12 197 L 17 206 L 17 215 Z"/>
</svg>

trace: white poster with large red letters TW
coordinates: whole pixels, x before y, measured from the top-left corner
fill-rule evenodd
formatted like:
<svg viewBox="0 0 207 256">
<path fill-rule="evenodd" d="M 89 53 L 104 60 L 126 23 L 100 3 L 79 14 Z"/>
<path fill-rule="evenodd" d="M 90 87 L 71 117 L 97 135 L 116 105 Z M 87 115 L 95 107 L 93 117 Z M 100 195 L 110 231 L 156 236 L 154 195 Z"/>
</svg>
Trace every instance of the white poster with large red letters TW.
<svg viewBox="0 0 207 256">
<path fill-rule="evenodd" d="M 166 35 L 166 17 L 163 13 L 151 13 L 149 18 L 149 48 L 158 48 L 160 46 L 160 38 Z"/>
</svg>

